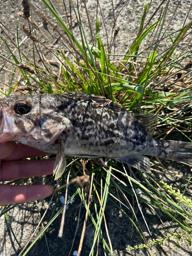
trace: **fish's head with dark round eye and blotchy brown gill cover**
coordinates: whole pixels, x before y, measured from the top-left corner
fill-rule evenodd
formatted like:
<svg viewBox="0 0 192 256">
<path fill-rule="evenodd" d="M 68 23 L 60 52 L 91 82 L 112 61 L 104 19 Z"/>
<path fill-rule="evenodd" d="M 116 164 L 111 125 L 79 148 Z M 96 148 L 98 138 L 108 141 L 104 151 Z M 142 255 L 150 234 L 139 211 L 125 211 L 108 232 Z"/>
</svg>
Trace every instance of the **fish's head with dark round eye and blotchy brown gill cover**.
<svg viewBox="0 0 192 256">
<path fill-rule="evenodd" d="M 45 97 L 48 96 L 48 97 Z M 0 100 L 0 143 L 17 141 L 32 147 L 52 144 L 70 121 L 49 95 L 19 95 Z"/>
</svg>

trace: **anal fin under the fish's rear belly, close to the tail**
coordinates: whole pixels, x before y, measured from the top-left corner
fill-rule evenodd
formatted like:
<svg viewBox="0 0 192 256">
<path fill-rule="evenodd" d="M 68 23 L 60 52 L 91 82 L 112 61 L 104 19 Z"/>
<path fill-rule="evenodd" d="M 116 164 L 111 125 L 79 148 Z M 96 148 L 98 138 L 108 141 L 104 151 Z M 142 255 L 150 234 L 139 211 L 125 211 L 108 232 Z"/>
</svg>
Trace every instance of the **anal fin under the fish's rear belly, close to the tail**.
<svg viewBox="0 0 192 256">
<path fill-rule="evenodd" d="M 126 163 L 141 172 L 144 173 L 151 173 L 151 164 L 150 164 L 150 159 L 145 156 L 140 156 L 140 155 L 131 155 L 127 157 L 121 157 L 121 158 L 115 158 L 116 161 Z"/>
</svg>

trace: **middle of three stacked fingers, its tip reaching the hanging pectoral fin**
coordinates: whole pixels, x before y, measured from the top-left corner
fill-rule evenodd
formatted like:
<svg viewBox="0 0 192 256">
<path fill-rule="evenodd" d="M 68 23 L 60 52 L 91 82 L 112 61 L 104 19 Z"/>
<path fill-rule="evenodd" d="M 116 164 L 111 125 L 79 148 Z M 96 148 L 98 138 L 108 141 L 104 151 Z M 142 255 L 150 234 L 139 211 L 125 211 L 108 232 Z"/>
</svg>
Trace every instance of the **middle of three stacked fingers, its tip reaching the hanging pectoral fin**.
<svg viewBox="0 0 192 256">
<path fill-rule="evenodd" d="M 53 174 L 54 162 L 55 160 L 2 161 L 0 181 Z"/>
</svg>

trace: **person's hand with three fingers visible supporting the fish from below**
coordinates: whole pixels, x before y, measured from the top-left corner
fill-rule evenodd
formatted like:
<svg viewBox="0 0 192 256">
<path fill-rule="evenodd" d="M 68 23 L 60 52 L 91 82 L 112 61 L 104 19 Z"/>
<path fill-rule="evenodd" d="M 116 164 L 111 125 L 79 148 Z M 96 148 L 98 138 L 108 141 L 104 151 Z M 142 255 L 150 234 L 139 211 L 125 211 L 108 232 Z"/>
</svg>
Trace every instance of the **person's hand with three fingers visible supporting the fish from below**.
<svg viewBox="0 0 192 256">
<path fill-rule="evenodd" d="M 0 144 L 0 182 L 53 174 L 55 160 L 22 160 L 42 155 L 46 153 L 13 141 Z M 0 205 L 45 198 L 52 191 L 53 188 L 50 185 L 0 184 Z"/>
</svg>

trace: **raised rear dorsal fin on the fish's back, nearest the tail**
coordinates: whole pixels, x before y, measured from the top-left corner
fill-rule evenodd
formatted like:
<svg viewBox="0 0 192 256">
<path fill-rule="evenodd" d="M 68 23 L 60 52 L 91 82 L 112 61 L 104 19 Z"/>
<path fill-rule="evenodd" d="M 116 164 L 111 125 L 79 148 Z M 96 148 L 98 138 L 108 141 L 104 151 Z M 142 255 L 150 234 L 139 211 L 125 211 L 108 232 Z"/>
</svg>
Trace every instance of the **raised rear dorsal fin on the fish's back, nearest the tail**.
<svg viewBox="0 0 192 256">
<path fill-rule="evenodd" d="M 146 131 L 148 136 L 153 136 L 155 127 L 158 123 L 157 114 L 126 113 L 124 114 L 124 117 L 131 118 L 133 121 L 137 121 Z"/>
</svg>

